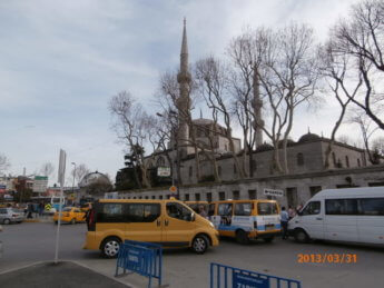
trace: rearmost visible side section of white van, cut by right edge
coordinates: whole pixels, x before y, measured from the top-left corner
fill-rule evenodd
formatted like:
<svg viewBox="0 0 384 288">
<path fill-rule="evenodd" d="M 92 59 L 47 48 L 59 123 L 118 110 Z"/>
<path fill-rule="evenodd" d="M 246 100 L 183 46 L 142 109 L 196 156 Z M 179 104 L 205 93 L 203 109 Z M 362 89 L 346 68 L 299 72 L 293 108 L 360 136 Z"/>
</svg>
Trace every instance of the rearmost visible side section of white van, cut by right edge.
<svg viewBox="0 0 384 288">
<path fill-rule="evenodd" d="M 384 244 L 384 198 L 358 199 L 357 205 L 358 241 Z"/>
</svg>

